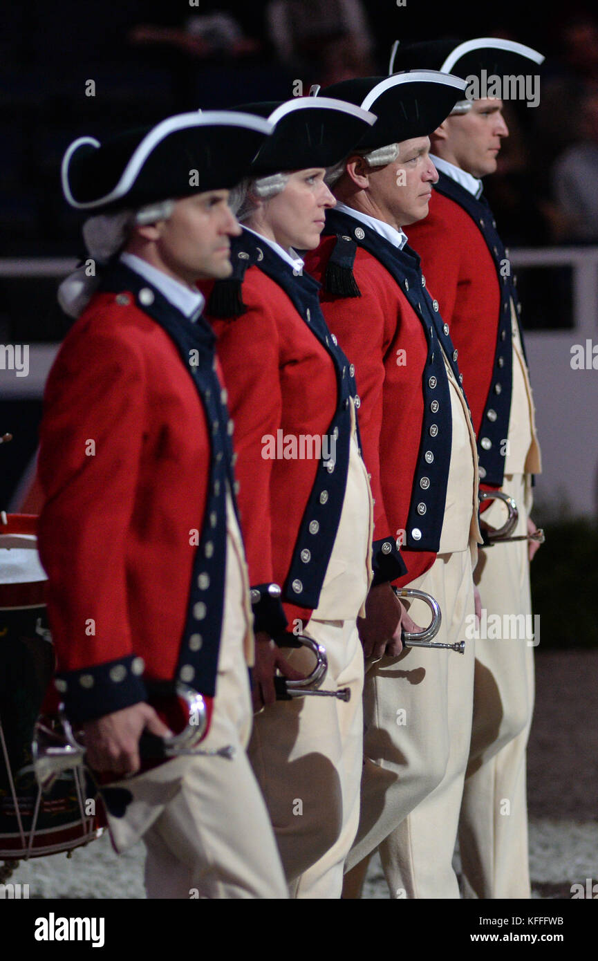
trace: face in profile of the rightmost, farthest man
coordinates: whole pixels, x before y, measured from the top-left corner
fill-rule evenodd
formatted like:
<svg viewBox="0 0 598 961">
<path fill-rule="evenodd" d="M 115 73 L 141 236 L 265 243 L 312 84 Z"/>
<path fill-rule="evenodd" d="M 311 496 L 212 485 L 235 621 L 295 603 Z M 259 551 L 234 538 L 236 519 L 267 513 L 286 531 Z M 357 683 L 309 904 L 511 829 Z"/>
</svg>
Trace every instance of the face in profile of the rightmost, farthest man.
<svg viewBox="0 0 598 961">
<path fill-rule="evenodd" d="M 471 110 L 448 117 L 445 124 L 448 138 L 440 141 L 438 155 L 473 177 L 493 174 L 502 137 L 509 136 L 502 100 L 474 100 Z"/>
</svg>

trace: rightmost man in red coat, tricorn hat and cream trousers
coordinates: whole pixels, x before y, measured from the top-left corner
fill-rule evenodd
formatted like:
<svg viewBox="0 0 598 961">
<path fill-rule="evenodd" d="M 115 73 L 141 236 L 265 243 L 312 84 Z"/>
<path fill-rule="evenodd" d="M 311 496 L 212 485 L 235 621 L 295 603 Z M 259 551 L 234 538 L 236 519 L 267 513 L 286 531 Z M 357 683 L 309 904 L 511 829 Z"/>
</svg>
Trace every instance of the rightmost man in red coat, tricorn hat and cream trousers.
<svg viewBox="0 0 598 961">
<path fill-rule="evenodd" d="M 473 82 L 484 76 L 537 74 L 542 60 L 530 47 L 485 37 L 400 45 L 394 67 L 446 70 L 469 78 L 475 90 Z M 491 627 L 487 637 L 476 634 L 460 827 L 464 890 L 474 898 L 531 897 L 525 752 L 534 707 L 529 563 L 537 544 L 528 553 L 525 535 L 536 530 L 529 510 L 540 459 L 515 279 L 482 192 L 482 178 L 495 171 L 501 138 L 509 135 L 502 107 L 500 99 L 465 99 L 437 128 L 431 139 L 439 180 L 430 213 L 410 232 L 460 352 L 482 489 L 514 498 L 519 519 L 512 535 L 522 538 L 485 549 L 476 572 L 482 624 L 498 619 L 517 627 L 498 636 Z M 501 527 L 505 505 L 494 502 L 483 516 Z"/>
</svg>

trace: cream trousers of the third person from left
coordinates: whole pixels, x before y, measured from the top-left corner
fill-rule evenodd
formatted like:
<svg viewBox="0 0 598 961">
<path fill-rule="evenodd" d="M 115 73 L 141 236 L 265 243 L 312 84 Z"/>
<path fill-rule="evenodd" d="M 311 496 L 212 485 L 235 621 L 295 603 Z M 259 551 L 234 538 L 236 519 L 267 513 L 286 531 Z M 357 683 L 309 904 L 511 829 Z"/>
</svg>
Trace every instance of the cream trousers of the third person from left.
<svg viewBox="0 0 598 961">
<path fill-rule="evenodd" d="M 411 582 L 436 597 L 436 641 L 465 640 L 474 617 L 469 550 L 438 554 Z M 429 608 L 411 604 L 422 627 Z M 350 870 L 380 849 L 391 898 L 459 898 L 452 868 L 471 735 L 474 642 L 465 653 L 408 648 L 373 663 L 364 686 L 361 820 Z"/>
</svg>

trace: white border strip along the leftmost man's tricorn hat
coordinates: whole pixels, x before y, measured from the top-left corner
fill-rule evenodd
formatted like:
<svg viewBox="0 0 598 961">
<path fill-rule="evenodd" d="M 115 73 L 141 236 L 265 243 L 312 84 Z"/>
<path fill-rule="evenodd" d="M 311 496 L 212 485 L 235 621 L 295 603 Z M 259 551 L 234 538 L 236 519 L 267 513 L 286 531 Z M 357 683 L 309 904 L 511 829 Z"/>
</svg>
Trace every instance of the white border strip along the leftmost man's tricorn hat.
<svg viewBox="0 0 598 961">
<path fill-rule="evenodd" d="M 253 113 L 242 113 L 240 111 L 189 111 L 188 113 L 178 113 L 175 116 L 167 117 L 156 127 L 153 127 L 141 140 L 128 161 L 120 180 L 114 189 L 99 200 L 88 201 L 85 204 L 78 203 L 73 197 L 68 184 L 68 165 L 76 149 L 84 143 L 90 143 L 94 147 L 99 147 L 100 143 L 91 136 L 81 136 L 64 154 L 62 160 L 62 190 L 66 200 L 71 207 L 77 209 L 92 209 L 109 204 L 112 200 L 118 200 L 125 196 L 131 186 L 135 183 L 139 170 L 145 163 L 152 151 L 161 141 L 178 130 L 187 130 L 192 127 L 244 127 L 247 130 L 255 130 L 260 134 L 271 134 L 273 124 L 264 117 L 256 116 Z"/>
</svg>

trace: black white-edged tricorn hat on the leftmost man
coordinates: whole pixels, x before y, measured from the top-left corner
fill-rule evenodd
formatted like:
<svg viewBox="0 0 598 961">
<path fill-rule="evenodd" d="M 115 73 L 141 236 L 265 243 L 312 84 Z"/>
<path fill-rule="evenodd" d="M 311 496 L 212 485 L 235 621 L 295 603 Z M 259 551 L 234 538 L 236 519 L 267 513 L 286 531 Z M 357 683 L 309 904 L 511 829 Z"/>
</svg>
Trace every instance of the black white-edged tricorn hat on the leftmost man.
<svg viewBox="0 0 598 961">
<path fill-rule="evenodd" d="M 62 190 L 71 207 L 100 212 L 232 187 L 272 130 L 251 113 L 193 111 L 103 144 L 81 136 L 62 159 Z"/>
</svg>

